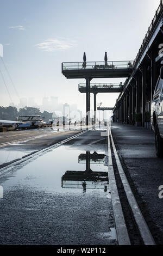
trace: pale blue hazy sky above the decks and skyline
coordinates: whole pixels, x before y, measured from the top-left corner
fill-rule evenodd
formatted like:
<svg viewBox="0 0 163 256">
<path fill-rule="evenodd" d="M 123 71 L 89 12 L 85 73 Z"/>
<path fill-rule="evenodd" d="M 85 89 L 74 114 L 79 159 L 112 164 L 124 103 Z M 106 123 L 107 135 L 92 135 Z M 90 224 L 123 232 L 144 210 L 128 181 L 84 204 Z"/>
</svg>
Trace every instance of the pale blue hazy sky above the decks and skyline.
<svg viewBox="0 0 163 256">
<path fill-rule="evenodd" d="M 160 0 L 0 0 L 0 105 L 21 97 L 58 96 L 85 111 L 84 79 L 67 80 L 62 62 L 134 60 Z M 3 76 L 3 77 L 2 77 Z M 91 82 L 124 82 L 124 78 Z M 13 86 L 14 84 L 14 86 Z M 15 89 L 14 89 L 15 88 Z M 9 92 L 9 93 L 8 93 Z M 97 103 L 115 105 L 118 94 L 97 94 Z M 93 94 L 91 94 L 93 108 Z"/>
</svg>

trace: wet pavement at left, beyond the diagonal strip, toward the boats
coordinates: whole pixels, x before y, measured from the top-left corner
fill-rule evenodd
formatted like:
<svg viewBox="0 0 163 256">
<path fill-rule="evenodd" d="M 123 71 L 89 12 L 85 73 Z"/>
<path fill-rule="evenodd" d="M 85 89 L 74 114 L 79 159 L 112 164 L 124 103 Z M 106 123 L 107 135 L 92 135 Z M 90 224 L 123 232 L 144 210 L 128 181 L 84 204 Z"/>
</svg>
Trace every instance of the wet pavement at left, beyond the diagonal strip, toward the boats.
<svg viewBox="0 0 163 256">
<path fill-rule="evenodd" d="M 0 169 L 79 132 L 80 129 L 75 127 L 71 130 L 59 127 L 0 133 Z"/>
</svg>

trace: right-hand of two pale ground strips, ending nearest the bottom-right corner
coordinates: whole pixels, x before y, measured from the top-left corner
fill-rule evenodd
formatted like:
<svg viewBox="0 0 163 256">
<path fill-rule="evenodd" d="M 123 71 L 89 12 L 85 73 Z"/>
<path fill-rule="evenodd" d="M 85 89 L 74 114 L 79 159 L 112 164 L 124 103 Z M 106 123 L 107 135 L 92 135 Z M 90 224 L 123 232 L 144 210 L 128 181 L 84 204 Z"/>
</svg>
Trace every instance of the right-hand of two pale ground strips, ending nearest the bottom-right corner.
<svg viewBox="0 0 163 256">
<path fill-rule="evenodd" d="M 134 215 L 135 221 L 137 223 L 137 226 L 139 228 L 142 240 L 145 243 L 145 245 L 155 245 L 155 242 L 154 242 L 154 239 L 152 237 L 151 231 L 148 228 L 148 225 L 147 225 L 147 223 L 146 223 L 146 221 L 145 221 L 145 219 L 142 215 L 142 212 L 139 208 L 139 205 L 136 202 L 134 194 L 131 191 L 131 188 L 130 188 L 129 182 L 127 180 L 126 174 L 124 173 L 121 161 L 120 161 L 120 159 L 118 157 L 118 154 L 117 154 L 117 150 L 116 150 L 116 147 L 115 147 L 115 144 L 114 144 L 114 140 L 112 138 L 111 129 L 110 129 L 109 126 L 108 126 L 108 128 L 109 128 L 109 131 L 110 131 L 111 143 L 112 143 L 112 148 L 114 150 L 114 155 L 115 155 L 115 159 L 116 159 L 116 163 L 117 163 L 118 172 L 120 173 L 121 180 L 122 180 L 123 187 L 124 187 L 124 191 L 126 192 L 128 202 L 130 204 L 131 210 L 133 211 L 133 215 Z"/>
</svg>

